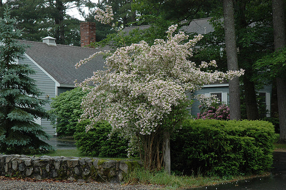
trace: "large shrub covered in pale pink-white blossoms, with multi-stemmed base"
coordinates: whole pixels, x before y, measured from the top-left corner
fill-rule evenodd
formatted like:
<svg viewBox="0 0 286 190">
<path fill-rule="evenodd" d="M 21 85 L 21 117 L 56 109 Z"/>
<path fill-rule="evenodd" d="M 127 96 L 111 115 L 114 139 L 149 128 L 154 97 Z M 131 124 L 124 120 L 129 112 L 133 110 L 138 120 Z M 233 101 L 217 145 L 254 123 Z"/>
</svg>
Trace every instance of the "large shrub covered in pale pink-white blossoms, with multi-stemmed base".
<svg viewBox="0 0 286 190">
<path fill-rule="evenodd" d="M 94 72 L 79 84 L 89 92 L 82 102 L 81 118 L 92 122 L 86 129 L 105 120 L 112 131 L 137 140 L 148 169 L 161 167 L 163 133 L 172 132 L 186 116 L 184 111 L 190 101 L 185 92 L 244 73 L 201 71 L 200 67 L 215 66 L 212 61 L 197 68 L 189 61 L 193 46 L 203 36 L 188 40 L 183 32 L 174 34 L 176 30 L 176 25 L 169 27 L 167 40 L 157 39 L 151 46 L 141 41 L 118 48 L 113 54 L 107 52 L 107 69 Z M 91 83 L 95 87 L 90 87 Z"/>
</svg>

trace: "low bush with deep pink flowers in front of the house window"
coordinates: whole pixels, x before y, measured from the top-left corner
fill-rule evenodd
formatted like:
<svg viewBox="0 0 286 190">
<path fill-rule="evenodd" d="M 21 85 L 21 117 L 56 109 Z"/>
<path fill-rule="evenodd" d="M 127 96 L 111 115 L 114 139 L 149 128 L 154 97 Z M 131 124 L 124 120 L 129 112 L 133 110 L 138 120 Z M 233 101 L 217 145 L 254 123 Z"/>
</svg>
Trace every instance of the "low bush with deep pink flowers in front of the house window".
<svg viewBox="0 0 286 190">
<path fill-rule="evenodd" d="M 215 119 L 215 120 L 229 120 L 229 107 L 218 101 L 216 95 L 207 97 L 205 95 L 198 95 L 197 99 L 201 101 L 199 108 L 201 112 L 197 114 L 196 119 Z"/>
</svg>

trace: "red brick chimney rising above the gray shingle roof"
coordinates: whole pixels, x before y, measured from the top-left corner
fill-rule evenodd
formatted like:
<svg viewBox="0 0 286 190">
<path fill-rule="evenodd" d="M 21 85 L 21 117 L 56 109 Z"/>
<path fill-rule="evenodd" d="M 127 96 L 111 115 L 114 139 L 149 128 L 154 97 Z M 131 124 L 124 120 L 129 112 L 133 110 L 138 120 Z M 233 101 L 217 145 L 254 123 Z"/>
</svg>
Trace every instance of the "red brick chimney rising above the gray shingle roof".
<svg viewBox="0 0 286 190">
<path fill-rule="evenodd" d="M 95 42 L 95 23 L 80 23 L 80 47 L 89 45 L 91 42 Z"/>
</svg>

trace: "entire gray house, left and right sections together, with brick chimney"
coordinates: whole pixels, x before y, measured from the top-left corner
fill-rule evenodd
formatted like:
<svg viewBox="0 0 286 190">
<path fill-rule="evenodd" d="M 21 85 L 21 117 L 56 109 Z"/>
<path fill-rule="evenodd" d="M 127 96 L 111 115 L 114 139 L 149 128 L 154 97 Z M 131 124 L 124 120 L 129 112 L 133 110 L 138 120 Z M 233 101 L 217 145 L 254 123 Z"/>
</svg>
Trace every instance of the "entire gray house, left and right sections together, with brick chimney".
<svg viewBox="0 0 286 190">
<path fill-rule="evenodd" d="M 182 30 L 186 32 L 195 32 L 205 34 L 213 32 L 214 28 L 209 23 L 211 18 L 195 19 L 188 26 L 183 26 Z M 141 30 L 149 26 L 126 27 L 125 32 L 136 28 Z M 103 57 L 96 57 L 78 69 L 74 67 L 75 63 L 88 58 L 93 53 L 100 51 L 95 48 L 86 48 L 90 42 L 95 41 L 95 23 L 85 22 L 80 25 L 81 47 L 56 44 L 55 38 L 50 36 L 42 39 L 42 42 L 19 40 L 30 47 L 26 49 L 23 59 L 18 60 L 19 64 L 28 64 L 36 71 L 35 75 L 30 76 L 36 80 L 36 85 L 42 92 L 40 98 L 51 102 L 51 98 L 60 95 L 63 92 L 75 88 L 74 81 L 82 82 L 84 79 L 93 75 L 93 71 L 104 69 Z M 107 48 L 108 49 L 108 48 Z M 263 103 L 267 110 L 270 110 L 271 86 L 265 87 L 257 92 L 264 97 Z M 217 95 L 225 103 L 229 102 L 228 83 L 214 83 L 205 85 L 203 89 L 195 92 L 196 94 Z M 199 113 L 199 102 L 192 106 L 191 114 L 196 116 Z M 50 110 L 49 103 L 45 105 L 46 110 Z M 270 114 L 267 113 L 270 117 Z M 56 130 L 50 121 L 39 119 L 36 121 L 43 127 L 43 130 L 50 135 L 56 135 Z"/>
</svg>

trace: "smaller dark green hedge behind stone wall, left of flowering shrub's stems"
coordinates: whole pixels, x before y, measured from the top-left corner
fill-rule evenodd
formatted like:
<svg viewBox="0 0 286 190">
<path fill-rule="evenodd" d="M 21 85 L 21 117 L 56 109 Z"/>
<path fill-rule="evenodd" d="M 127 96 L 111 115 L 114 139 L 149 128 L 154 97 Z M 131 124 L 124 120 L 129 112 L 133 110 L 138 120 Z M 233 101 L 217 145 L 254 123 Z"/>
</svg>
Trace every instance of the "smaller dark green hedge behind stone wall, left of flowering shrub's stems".
<svg viewBox="0 0 286 190">
<path fill-rule="evenodd" d="M 108 123 L 98 123 L 94 128 L 85 131 L 89 121 L 76 126 L 74 139 L 78 150 L 87 156 L 104 158 L 126 158 L 128 141 L 118 134 L 108 136 L 111 126 Z"/>
</svg>

